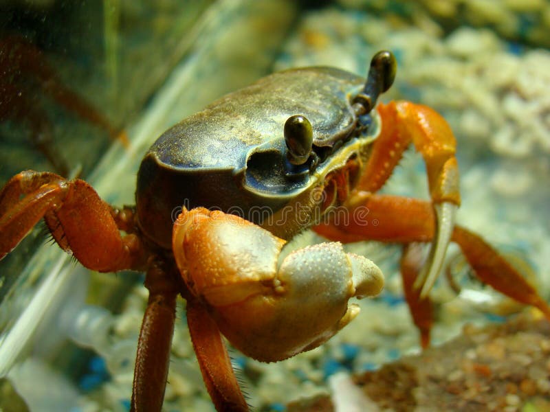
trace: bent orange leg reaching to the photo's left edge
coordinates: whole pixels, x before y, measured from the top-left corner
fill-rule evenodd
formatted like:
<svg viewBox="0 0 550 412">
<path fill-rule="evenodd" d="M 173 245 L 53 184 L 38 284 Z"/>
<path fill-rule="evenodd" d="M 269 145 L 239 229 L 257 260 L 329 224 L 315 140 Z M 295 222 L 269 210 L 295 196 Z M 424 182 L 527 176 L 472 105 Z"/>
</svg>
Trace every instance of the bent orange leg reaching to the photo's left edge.
<svg viewBox="0 0 550 412">
<path fill-rule="evenodd" d="M 0 259 L 45 218 L 52 236 L 85 267 L 111 272 L 142 268 L 146 254 L 135 235 L 120 236 L 111 207 L 83 180 L 21 172 L 0 192 Z"/>
</svg>

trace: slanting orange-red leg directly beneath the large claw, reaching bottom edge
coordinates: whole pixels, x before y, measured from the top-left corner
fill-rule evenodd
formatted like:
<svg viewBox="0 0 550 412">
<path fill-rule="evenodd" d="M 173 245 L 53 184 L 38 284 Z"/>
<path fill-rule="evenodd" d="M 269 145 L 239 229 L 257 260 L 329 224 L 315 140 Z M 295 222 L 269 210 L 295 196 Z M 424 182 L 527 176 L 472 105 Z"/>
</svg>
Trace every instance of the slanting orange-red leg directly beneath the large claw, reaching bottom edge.
<svg viewBox="0 0 550 412">
<path fill-rule="evenodd" d="M 187 323 L 206 389 L 217 411 L 248 411 L 218 326 L 196 298 L 187 298 Z"/>
</svg>

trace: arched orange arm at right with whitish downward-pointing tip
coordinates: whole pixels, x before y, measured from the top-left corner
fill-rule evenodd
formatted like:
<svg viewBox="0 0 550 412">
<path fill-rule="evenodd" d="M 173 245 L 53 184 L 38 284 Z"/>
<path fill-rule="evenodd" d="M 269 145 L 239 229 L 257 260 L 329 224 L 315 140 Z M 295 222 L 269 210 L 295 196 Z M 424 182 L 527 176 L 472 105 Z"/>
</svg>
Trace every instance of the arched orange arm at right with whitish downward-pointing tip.
<svg viewBox="0 0 550 412">
<path fill-rule="evenodd" d="M 421 296 L 426 296 L 441 270 L 460 205 L 456 141 L 445 119 L 427 106 L 401 101 L 379 104 L 377 110 L 382 117 L 382 132 L 373 144 L 358 189 L 380 190 L 410 143 L 423 156 L 437 222 L 430 256 L 415 283 L 421 288 Z"/>
</svg>

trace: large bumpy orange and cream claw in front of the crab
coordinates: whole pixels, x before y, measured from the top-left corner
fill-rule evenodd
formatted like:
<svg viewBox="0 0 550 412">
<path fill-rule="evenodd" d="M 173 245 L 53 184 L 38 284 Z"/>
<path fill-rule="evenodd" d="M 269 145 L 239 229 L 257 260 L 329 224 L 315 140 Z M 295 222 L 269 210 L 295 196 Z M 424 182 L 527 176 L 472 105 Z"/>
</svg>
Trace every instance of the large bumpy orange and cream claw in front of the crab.
<svg viewBox="0 0 550 412">
<path fill-rule="evenodd" d="M 259 361 L 314 349 L 358 314 L 351 297 L 377 295 L 384 286 L 380 268 L 339 242 L 298 249 L 279 262 L 284 245 L 221 211 L 184 210 L 174 228 L 186 284 L 232 345 Z"/>
</svg>

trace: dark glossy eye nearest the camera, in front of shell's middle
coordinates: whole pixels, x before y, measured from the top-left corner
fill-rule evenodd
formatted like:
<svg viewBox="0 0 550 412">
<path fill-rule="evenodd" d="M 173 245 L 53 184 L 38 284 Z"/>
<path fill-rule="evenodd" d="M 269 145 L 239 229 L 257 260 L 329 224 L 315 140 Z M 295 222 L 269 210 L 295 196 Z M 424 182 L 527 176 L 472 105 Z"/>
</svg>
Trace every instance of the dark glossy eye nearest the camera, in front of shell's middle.
<svg viewBox="0 0 550 412">
<path fill-rule="evenodd" d="M 309 159 L 314 142 L 311 123 L 302 115 L 290 116 L 285 122 L 284 134 L 288 161 L 293 165 L 303 165 Z"/>
</svg>

